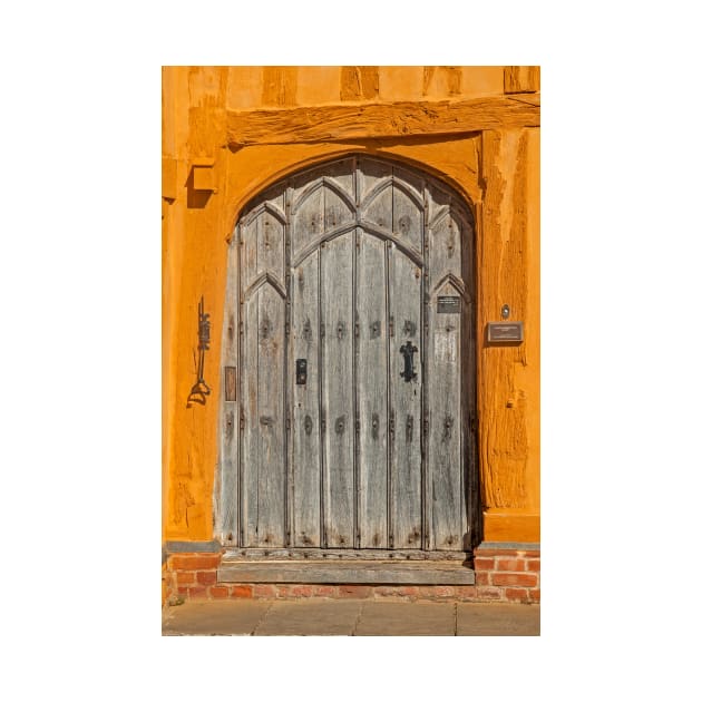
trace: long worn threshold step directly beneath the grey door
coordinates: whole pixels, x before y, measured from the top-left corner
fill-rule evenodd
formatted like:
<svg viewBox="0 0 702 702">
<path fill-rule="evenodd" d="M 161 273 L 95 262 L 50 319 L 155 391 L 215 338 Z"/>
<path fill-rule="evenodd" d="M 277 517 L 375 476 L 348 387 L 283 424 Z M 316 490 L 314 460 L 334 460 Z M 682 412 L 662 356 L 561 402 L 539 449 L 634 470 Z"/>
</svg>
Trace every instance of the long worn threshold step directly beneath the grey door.
<svg viewBox="0 0 702 702">
<path fill-rule="evenodd" d="M 460 560 L 251 560 L 224 558 L 218 583 L 305 583 L 339 585 L 475 585 Z"/>
</svg>

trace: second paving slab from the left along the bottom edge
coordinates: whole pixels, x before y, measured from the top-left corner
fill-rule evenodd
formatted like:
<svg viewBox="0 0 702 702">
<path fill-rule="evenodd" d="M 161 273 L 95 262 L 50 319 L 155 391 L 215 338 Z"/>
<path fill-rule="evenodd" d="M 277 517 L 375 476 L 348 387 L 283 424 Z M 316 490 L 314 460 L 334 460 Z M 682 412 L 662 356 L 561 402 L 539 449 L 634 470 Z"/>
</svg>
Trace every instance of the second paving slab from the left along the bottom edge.
<svg viewBox="0 0 702 702">
<path fill-rule="evenodd" d="M 360 601 L 275 602 L 255 636 L 351 636 L 361 614 Z"/>
</svg>

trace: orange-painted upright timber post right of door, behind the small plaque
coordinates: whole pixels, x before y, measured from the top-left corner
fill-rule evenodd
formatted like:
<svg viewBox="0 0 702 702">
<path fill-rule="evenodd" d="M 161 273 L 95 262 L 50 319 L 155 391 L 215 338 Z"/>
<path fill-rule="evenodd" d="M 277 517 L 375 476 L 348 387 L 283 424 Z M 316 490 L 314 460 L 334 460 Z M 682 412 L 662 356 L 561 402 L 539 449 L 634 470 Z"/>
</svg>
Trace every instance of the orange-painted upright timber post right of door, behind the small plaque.
<svg viewBox="0 0 702 702">
<path fill-rule="evenodd" d="M 486 131 L 482 135 L 482 236 L 478 251 L 482 284 L 478 289 L 480 333 L 490 320 L 499 320 L 501 304 L 510 306 L 510 320 L 529 319 L 527 291 L 530 265 L 527 238 L 528 129 Z M 490 265 L 487 262 L 490 262 Z M 533 330 L 525 328 L 529 339 Z M 481 345 L 478 363 L 480 406 L 480 470 L 482 504 L 487 508 L 527 505 L 529 388 L 521 378 L 529 363 L 526 343 L 495 348 Z M 489 401 L 487 401 L 489 398 Z"/>
</svg>

